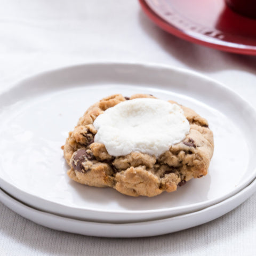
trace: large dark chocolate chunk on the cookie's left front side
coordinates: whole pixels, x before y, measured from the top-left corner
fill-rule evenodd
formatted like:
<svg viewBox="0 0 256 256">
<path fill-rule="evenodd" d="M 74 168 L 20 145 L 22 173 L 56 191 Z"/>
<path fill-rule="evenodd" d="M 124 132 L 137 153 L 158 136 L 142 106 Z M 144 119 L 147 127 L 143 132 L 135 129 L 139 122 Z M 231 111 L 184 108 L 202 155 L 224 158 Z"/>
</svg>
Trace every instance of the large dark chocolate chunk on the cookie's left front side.
<svg viewBox="0 0 256 256">
<path fill-rule="evenodd" d="M 89 150 L 86 150 L 85 148 L 78 149 L 76 151 L 76 154 L 74 154 L 73 158 L 71 159 L 71 165 L 73 168 L 78 172 L 87 172 L 88 170 L 85 170 L 85 167 L 83 166 L 83 162 L 86 160 L 93 160 L 94 156 L 92 152 Z"/>
</svg>

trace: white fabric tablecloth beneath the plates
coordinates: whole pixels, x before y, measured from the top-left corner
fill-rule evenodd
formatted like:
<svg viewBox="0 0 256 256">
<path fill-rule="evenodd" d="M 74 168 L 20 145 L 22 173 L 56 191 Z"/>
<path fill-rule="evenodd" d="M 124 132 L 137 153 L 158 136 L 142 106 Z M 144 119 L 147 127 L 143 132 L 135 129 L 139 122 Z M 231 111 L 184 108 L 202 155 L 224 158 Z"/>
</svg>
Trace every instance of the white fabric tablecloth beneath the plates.
<svg viewBox="0 0 256 256">
<path fill-rule="evenodd" d="M 132 61 L 208 75 L 256 107 L 256 58 L 182 41 L 158 29 L 137 0 L 0 0 L 0 90 L 74 63 Z M 0 255 L 256 255 L 256 195 L 223 217 L 136 239 L 51 230 L 0 203 Z"/>
</svg>

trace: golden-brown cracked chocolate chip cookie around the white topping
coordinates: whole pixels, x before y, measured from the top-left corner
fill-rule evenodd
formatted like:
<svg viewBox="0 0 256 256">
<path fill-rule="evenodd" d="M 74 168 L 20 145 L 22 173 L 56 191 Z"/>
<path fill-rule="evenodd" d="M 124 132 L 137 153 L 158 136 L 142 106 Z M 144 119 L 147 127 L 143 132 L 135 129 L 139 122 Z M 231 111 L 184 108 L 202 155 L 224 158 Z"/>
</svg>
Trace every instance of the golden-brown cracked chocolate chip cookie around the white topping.
<svg viewBox="0 0 256 256">
<path fill-rule="evenodd" d="M 112 187 L 129 196 L 151 197 L 163 191 L 175 191 L 188 180 L 206 175 L 213 155 L 213 133 L 206 119 L 181 105 L 190 131 L 184 140 L 158 158 L 139 152 L 114 157 L 108 154 L 103 144 L 94 142 L 97 133 L 93 126 L 95 118 L 122 101 L 136 98 L 155 97 L 148 94 L 134 94 L 130 98 L 111 95 L 92 105 L 79 118 L 62 146 L 70 166 L 69 177 L 89 186 Z"/>
</svg>

